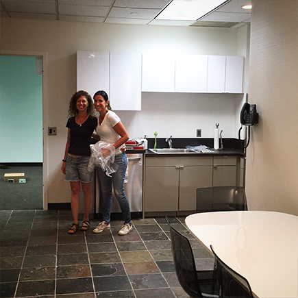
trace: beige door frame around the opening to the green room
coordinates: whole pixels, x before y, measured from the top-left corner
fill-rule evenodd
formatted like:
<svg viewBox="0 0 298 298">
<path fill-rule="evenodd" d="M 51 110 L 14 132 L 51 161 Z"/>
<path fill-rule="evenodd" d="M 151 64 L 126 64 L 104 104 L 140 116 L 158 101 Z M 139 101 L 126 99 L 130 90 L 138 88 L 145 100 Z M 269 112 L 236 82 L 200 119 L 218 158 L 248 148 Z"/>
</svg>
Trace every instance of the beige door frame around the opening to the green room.
<svg viewBox="0 0 298 298">
<path fill-rule="evenodd" d="M 48 139 L 47 139 L 47 127 L 48 127 L 48 88 L 47 88 L 47 52 L 40 51 L 3 51 L 0 50 L 0 55 L 6 56 L 24 56 L 24 57 L 42 57 L 42 204 L 43 210 L 48 209 L 48 196 L 47 189 L 49 188 L 49 179 L 47 177 L 48 164 Z"/>
</svg>

